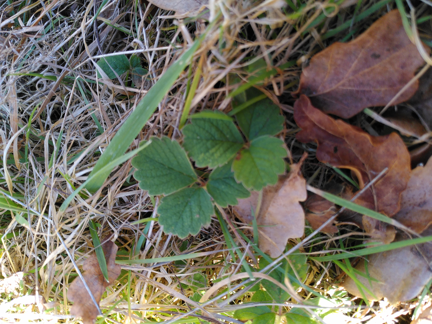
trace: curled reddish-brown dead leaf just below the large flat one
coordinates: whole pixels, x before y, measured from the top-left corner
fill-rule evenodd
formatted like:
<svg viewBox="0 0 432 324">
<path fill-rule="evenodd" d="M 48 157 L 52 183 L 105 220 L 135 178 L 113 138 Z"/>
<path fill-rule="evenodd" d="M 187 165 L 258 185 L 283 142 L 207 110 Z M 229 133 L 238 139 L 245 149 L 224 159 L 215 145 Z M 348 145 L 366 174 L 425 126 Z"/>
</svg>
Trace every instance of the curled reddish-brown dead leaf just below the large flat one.
<svg viewBox="0 0 432 324">
<path fill-rule="evenodd" d="M 297 140 L 317 142 L 317 158 L 323 163 L 352 170 L 360 188 L 388 168 L 387 173 L 355 202 L 387 216 L 399 210 L 400 195 L 409 179 L 410 155 L 396 133 L 371 136 L 324 114 L 313 107 L 305 95 L 294 104 L 294 119 L 302 128 Z"/>
</svg>

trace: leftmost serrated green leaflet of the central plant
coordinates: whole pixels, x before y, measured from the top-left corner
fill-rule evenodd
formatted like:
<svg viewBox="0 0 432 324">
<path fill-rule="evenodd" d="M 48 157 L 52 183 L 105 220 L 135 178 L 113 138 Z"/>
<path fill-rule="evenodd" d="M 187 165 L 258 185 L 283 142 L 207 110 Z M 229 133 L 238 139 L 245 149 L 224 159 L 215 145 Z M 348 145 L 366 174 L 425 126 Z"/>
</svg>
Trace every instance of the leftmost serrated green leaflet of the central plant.
<svg viewBox="0 0 432 324">
<path fill-rule="evenodd" d="M 132 159 L 134 177 L 148 194 L 168 195 L 197 181 L 186 152 L 168 137 L 151 138 L 151 144 Z"/>
</svg>

